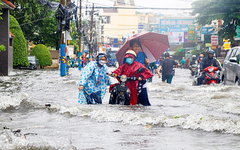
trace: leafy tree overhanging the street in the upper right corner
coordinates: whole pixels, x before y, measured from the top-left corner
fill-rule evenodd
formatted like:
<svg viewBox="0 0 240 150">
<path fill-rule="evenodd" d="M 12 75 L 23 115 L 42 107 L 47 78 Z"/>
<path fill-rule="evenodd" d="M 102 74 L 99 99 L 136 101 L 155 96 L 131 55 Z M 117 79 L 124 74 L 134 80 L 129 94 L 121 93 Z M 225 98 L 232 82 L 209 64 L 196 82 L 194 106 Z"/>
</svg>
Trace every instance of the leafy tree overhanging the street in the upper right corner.
<svg viewBox="0 0 240 150">
<path fill-rule="evenodd" d="M 239 0 L 198 0 L 192 3 L 193 15 L 201 25 L 210 24 L 212 20 L 223 19 L 223 29 L 219 34 L 234 42 L 236 26 L 240 25 Z"/>
</svg>

